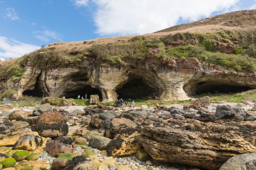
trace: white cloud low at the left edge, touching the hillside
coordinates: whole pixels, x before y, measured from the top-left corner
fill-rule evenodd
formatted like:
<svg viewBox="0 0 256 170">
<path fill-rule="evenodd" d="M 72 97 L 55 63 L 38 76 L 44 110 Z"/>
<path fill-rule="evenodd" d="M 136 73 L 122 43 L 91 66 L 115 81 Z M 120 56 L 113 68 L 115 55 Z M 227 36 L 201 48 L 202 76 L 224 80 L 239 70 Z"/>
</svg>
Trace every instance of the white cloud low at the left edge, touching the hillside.
<svg viewBox="0 0 256 170">
<path fill-rule="evenodd" d="M 0 57 L 3 58 L 16 58 L 26 53 L 39 49 L 40 47 L 32 44 L 26 44 L 14 39 L 0 36 Z"/>
</svg>

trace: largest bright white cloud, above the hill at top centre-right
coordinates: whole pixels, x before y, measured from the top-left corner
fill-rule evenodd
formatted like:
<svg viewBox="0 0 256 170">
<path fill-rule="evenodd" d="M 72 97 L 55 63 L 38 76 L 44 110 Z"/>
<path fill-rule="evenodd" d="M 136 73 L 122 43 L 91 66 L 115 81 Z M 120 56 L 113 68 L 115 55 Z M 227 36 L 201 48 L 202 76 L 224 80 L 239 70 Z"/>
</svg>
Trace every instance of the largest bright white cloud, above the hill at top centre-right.
<svg viewBox="0 0 256 170">
<path fill-rule="evenodd" d="M 100 35 L 152 33 L 176 25 L 180 18 L 195 21 L 214 11 L 229 11 L 239 0 L 93 0 L 94 22 Z M 235 8 L 234 8 L 235 9 Z"/>
</svg>

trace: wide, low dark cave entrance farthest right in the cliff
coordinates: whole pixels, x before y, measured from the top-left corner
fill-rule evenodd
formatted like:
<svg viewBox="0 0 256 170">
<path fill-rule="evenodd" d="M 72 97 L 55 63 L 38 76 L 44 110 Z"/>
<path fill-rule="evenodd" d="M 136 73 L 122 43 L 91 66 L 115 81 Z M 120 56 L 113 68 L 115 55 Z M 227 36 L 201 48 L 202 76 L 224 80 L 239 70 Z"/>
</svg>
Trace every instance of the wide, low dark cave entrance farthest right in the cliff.
<svg viewBox="0 0 256 170">
<path fill-rule="evenodd" d="M 188 95 L 199 95 L 199 94 L 218 94 L 218 93 L 237 93 L 251 90 L 252 88 L 243 85 L 236 84 L 220 84 L 215 82 L 199 82 L 188 90 Z"/>
</svg>

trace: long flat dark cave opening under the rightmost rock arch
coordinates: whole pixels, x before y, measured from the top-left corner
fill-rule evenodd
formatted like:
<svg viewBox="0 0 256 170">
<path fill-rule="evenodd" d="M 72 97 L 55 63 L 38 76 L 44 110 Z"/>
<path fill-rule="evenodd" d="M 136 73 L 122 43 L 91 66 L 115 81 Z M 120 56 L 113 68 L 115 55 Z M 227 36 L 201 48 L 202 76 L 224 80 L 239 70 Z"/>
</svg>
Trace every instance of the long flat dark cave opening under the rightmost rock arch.
<svg viewBox="0 0 256 170">
<path fill-rule="evenodd" d="M 236 93 L 244 92 L 254 87 L 249 85 L 237 84 L 232 82 L 222 81 L 201 81 L 201 82 L 190 82 L 183 86 L 184 91 L 188 96 L 194 96 L 199 94 L 207 93 Z"/>
</svg>

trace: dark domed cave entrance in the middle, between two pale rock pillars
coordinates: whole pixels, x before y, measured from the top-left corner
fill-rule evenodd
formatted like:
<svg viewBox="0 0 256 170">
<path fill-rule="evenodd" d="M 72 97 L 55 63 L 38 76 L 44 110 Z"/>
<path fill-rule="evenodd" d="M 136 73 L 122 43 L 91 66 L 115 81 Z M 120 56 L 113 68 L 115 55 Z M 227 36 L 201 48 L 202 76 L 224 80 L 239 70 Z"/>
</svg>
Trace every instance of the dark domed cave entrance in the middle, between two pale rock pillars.
<svg viewBox="0 0 256 170">
<path fill-rule="evenodd" d="M 123 99 L 152 99 L 157 92 L 156 87 L 149 86 L 142 78 L 132 79 L 116 91 L 118 98 Z"/>
</svg>

